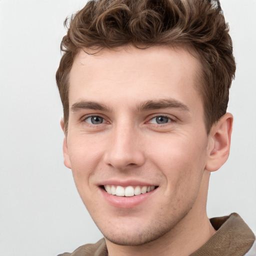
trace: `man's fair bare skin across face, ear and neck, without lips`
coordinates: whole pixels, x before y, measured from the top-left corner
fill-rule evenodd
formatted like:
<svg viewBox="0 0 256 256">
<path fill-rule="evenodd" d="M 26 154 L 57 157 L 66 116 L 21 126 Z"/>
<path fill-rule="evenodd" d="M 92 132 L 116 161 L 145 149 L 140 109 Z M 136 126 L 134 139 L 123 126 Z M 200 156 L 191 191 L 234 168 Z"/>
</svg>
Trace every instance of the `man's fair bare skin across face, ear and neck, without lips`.
<svg viewBox="0 0 256 256">
<path fill-rule="evenodd" d="M 75 57 L 64 164 L 110 256 L 188 255 L 214 233 L 205 210 L 208 179 L 228 157 L 232 115 L 207 134 L 198 68 L 186 50 L 163 46 Z M 102 196 L 106 180 L 157 188 L 122 208 Z"/>
</svg>

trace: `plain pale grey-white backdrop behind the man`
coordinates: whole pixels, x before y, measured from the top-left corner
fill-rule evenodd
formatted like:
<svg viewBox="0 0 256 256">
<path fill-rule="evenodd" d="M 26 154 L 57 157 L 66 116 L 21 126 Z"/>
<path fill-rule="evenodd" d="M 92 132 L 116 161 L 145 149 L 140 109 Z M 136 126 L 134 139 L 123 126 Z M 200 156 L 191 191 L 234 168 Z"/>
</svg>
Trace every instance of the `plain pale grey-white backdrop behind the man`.
<svg viewBox="0 0 256 256">
<path fill-rule="evenodd" d="M 0 256 L 54 256 L 102 236 L 63 165 L 54 78 L 63 20 L 85 2 L 0 0 Z M 256 0 L 221 5 L 237 62 L 234 127 L 230 157 L 211 174 L 207 212 L 238 212 L 255 232 Z"/>
</svg>

